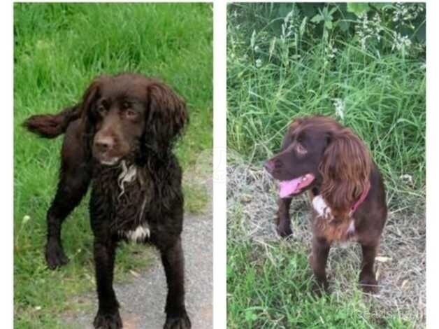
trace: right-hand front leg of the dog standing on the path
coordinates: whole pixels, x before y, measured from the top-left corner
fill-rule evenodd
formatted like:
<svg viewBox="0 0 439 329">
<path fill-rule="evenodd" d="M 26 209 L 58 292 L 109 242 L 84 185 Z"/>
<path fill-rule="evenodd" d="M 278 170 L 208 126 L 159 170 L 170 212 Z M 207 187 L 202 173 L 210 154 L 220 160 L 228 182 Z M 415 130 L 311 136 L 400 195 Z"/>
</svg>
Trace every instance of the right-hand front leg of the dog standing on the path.
<svg viewBox="0 0 439 329">
<path fill-rule="evenodd" d="M 185 308 L 185 260 L 180 237 L 172 246 L 161 250 L 161 261 L 168 283 L 164 329 L 189 329 L 191 321 Z"/>
</svg>

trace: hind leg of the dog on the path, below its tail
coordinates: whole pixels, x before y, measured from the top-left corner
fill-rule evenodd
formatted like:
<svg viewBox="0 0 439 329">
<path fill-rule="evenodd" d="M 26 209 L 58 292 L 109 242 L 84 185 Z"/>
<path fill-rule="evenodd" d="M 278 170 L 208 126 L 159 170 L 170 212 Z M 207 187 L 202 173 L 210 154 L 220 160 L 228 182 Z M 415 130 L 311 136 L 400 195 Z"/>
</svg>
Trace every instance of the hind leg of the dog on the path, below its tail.
<svg viewBox="0 0 439 329">
<path fill-rule="evenodd" d="M 91 179 L 91 166 L 85 156 L 85 150 L 80 142 L 72 141 L 72 138 L 66 133 L 57 193 L 47 214 L 48 236 L 45 260 L 50 269 L 69 262 L 61 243 L 62 223 L 87 193 Z"/>
</svg>

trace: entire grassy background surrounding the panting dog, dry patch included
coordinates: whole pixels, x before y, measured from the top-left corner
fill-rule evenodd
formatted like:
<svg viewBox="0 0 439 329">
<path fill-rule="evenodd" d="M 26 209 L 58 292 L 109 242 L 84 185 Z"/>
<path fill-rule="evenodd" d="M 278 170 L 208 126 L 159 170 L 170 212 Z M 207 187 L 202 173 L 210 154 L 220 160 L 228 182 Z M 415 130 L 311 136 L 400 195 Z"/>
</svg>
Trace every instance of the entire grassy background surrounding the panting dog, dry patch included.
<svg viewBox="0 0 439 329">
<path fill-rule="evenodd" d="M 227 32 L 229 328 L 424 327 L 425 4 L 234 3 Z M 310 294 L 305 197 L 294 237 L 274 233 L 262 163 L 312 114 L 351 127 L 384 174 L 378 295 L 358 290 L 352 247 L 331 250 L 331 295 Z"/>
</svg>

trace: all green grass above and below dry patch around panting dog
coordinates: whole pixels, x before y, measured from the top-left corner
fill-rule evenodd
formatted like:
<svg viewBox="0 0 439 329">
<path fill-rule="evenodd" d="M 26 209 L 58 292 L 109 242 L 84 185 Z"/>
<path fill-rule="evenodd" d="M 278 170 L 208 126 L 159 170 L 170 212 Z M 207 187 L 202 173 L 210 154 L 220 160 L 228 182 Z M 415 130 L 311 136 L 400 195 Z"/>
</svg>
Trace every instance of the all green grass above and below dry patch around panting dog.
<svg viewBox="0 0 439 329">
<path fill-rule="evenodd" d="M 332 116 L 366 141 L 384 174 L 391 211 L 406 207 L 412 197 L 424 209 L 424 57 L 391 47 L 363 49 L 357 36 L 343 38 L 335 29 L 322 37 L 309 20 L 301 27 L 303 17 L 293 28 L 297 38 L 292 34 L 282 43 L 285 16 L 275 16 L 276 6 L 229 6 L 227 143 L 233 158 L 228 165 L 261 167 L 280 149 L 294 118 Z M 280 6 L 290 6 L 286 14 L 294 5 Z M 338 49 L 333 58 L 326 55 L 329 44 Z M 336 112 L 335 99 L 343 101 L 343 117 Z M 405 183 L 402 175 L 410 175 L 412 183 Z M 309 249 L 289 241 L 258 244 L 243 230 L 249 216 L 259 215 L 243 214 L 241 206 L 229 200 L 229 328 L 422 327 L 418 315 L 398 314 L 401 305 L 378 315 L 358 290 L 343 294 L 342 288 L 322 299 L 312 297 Z M 357 272 L 351 269 L 349 275 Z M 333 278 L 331 283 L 338 284 Z"/>
</svg>

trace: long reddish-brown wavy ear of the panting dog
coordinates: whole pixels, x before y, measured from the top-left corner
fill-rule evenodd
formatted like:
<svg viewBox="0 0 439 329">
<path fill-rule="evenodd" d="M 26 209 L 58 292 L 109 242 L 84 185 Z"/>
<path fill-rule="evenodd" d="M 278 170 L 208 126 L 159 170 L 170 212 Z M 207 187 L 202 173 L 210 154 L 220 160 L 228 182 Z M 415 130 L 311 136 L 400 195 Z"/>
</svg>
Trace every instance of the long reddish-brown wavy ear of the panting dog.
<svg viewBox="0 0 439 329">
<path fill-rule="evenodd" d="M 351 130 L 331 133 L 319 171 L 322 196 L 336 217 L 348 216 L 361 194 L 370 188 L 372 160 L 366 145 Z"/>
</svg>

